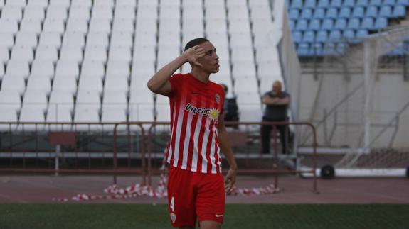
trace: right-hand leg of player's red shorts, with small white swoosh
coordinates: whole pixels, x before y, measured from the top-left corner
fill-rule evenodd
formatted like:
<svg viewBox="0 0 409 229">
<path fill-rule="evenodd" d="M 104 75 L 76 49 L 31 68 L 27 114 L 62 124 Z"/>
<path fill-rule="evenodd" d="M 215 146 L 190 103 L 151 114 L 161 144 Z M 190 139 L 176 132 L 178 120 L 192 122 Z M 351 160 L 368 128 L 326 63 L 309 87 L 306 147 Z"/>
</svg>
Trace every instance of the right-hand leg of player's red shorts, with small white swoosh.
<svg viewBox="0 0 409 229">
<path fill-rule="evenodd" d="M 199 222 L 223 223 L 225 211 L 225 190 L 221 174 L 206 174 L 196 186 L 196 215 Z"/>
</svg>

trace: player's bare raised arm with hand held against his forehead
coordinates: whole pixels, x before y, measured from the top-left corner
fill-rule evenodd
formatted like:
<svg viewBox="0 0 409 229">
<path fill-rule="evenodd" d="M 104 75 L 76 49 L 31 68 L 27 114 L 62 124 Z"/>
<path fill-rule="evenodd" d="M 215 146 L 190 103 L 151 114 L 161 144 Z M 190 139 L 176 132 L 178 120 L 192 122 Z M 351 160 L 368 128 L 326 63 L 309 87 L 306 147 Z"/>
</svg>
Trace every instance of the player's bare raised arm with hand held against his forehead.
<svg viewBox="0 0 409 229">
<path fill-rule="evenodd" d="M 156 94 L 166 96 L 172 90 L 171 83 L 169 82 L 172 74 L 174 74 L 174 72 L 176 72 L 176 70 L 186 62 L 190 62 L 191 65 L 201 66 L 201 64 L 197 62 L 197 59 L 203 57 L 203 55 L 204 50 L 200 47 L 200 45 L 189 48 L 184 53 L 179 55 L 179 57 L 176 57 L 175 60 L 172 60 L 169 64 L 162 67 L 159 72 L 156 72 L 156 74 L 149 79 L 149 90 Z"/>
</svg>

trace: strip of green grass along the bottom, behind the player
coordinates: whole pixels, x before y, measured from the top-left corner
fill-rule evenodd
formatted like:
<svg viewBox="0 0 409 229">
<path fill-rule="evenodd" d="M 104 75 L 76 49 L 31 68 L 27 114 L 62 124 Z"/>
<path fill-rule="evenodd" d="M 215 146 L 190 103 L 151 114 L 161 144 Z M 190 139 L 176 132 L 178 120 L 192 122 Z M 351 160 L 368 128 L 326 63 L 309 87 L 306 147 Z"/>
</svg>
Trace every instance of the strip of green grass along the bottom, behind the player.
<svg viewBox="0 0 409 229">
<path fill-rule="evenodd" d="M 166 205 L 0 204 L 1 229 L 171 228 Z M 230 204 L 223 228 L 409 228 L 409 205 Z"/>
</svg>

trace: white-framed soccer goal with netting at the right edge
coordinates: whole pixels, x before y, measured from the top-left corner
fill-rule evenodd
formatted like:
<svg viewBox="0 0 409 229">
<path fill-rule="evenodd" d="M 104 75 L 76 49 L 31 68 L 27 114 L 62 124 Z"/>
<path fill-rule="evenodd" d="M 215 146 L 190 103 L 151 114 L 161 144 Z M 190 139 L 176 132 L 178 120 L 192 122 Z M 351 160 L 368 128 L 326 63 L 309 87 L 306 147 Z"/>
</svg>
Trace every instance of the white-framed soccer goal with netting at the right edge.
<svg viewBox="0 0 409 229">
<path fill-rule="evenodd" d="M 409 166 L 409 26 L 329 40 L 309 116 L 338 177 L 404 177 Z M 304 131 L 299 145 L 311 145 Z M 320 171 L 317 171 L 320 173 Z"/>
</svg>

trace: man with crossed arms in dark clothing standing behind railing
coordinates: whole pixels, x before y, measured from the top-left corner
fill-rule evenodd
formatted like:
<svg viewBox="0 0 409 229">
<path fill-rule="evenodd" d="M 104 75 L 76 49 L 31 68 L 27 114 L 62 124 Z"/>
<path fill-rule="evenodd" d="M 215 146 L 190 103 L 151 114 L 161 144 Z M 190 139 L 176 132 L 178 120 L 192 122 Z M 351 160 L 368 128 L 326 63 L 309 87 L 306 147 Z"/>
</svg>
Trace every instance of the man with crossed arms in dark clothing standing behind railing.
<svg viewBox="0 0 409 229">
<path fill-rule="evenodd" d="M 267 91 L 262 96 L 262 103 L 265 104 L 262 121 L 265 122 L 285 122 L 287 118 L 287 109 L 290 104 L 290 94 L 282 91 L 281 82 L 275 81 L 272 84 L 272 91 Z M 273 125 L 262 125 L 262 153 L 270 153 L 270 133 Z M 282 144 L 282 153 L 287 153 L 287 142 L 290 131 L 287 125 L 275 125 L 280 133 L 280 142 Z"/>
</svg>

